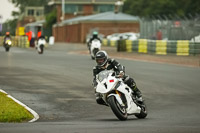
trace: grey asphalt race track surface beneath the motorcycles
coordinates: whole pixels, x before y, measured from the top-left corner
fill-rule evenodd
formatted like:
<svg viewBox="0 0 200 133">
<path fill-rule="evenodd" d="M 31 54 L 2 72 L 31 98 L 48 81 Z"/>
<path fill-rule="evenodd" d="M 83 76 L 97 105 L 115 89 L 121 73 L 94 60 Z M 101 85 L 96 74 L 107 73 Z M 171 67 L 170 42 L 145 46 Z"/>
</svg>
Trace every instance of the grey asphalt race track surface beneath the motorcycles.
<svg viewBox="0 0 200 133">
<path fill-rule="evenodd" d="M 200 68 L 123 59 L 148 106 L 146 119 L 119 121 L 97 105 L 91 60 L 85 45 L 56 44 L 43 55 L 35 49 L 0 47 L 0 89 L 20 100 L 40 119 L 0 123 L 0 133 L 199 133 Z M 87 53 L 87 52 L 86 52 Z"/>
</svg>

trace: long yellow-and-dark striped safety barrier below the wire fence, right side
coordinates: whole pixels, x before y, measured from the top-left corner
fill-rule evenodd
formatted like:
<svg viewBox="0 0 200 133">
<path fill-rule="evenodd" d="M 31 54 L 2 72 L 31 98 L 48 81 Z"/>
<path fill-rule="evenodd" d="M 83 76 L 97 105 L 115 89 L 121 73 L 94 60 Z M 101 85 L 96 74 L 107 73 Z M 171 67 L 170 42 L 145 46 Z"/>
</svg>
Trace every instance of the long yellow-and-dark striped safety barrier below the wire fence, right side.
<svg viewBox="0 0 200 133">
<path fill-rule="evenodd" d="M 112 44 L 112 45 L 111 45 Z M 167 55 L 169 53 L 176 55 L 196 55 L 200 54 L 200 43 L 189 40 L 147 40 L 139 39 L 136 41 L 119 40 L 109 41 L 103 40 L 104 46 L 116 46 L 117 51 L 151 53 L 158 55 Z"/>
</svg>

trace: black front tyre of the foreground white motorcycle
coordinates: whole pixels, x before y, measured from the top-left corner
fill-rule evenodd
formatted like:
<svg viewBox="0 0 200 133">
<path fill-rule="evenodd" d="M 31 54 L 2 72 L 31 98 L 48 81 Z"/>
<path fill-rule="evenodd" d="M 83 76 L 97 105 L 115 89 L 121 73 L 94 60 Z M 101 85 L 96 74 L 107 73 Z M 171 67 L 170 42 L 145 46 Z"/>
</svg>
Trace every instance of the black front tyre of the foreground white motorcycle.
<svg viewBox="0 0 200 133">
<path fill-rule="evenodd" d="M 117 116 L 117 118 L 121 121 L 124 121 L 127 119 L 127 111 L 125 107 L 122 107 L 118 101 L 116 100 L 115 96 L 110 96 L 107 99 L 108 104 L 110 105 L 113 113 Z"/>
</svg>

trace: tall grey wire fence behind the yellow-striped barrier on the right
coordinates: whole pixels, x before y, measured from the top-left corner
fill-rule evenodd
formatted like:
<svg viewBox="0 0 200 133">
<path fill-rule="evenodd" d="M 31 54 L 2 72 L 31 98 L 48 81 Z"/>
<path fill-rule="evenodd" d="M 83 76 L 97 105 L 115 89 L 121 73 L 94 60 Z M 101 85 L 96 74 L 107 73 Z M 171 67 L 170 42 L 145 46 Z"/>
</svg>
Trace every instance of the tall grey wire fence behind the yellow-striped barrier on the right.
<svg viewBox="0 0 200 133">
<path fill-rule="evenodd" d="M 184 19 L 140 20 L 140 38 L 152 40 L 191 40 L 200 36 L 200 15 Z"/>
</svg>

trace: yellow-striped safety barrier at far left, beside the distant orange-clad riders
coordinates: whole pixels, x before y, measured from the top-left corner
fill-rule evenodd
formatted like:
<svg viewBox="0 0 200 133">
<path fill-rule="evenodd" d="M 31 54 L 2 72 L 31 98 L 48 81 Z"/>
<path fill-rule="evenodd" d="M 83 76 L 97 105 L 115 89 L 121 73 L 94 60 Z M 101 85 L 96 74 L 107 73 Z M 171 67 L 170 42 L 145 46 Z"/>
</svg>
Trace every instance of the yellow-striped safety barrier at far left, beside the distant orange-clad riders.
<svg viewBox="0 0 200 133">
<path fill-rule="evenodd" d="M 3 45 L 4 37 L 0 37 L 0 45 Z M 30 44 L 27 36 L 13 36 L 12 37 L 12 46 L 21 47 L 21 48 L 29 48 Z"/>
</svg>

